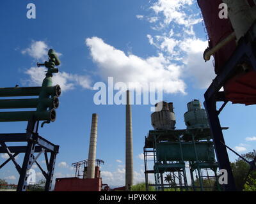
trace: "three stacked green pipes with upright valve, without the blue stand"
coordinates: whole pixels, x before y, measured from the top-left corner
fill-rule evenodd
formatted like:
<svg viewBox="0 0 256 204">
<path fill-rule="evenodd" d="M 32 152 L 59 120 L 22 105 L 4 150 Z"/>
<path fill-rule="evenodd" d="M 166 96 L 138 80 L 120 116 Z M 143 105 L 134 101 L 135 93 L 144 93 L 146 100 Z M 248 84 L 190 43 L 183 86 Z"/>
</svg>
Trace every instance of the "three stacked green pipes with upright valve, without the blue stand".
<svg viewBox="0 0 256 204">
<path fill-rule="evenodd" d="M 18 96 L 38 96 L 31 99 L 1 99 L 0 109 L 13 108 L 36 108 L 35 111 L 20 112 L 0 112 L 0 122 L 28 121 L 32 118 L 35 120 L 44 120 L 45 123 L 54 122 L 56 120 L 55 109 L 59 106 L 58 97 L 61 94 L 60 85 L 52 86 L 52 73 L 58 73 L 60 59 L 56 52 L 52 49 L 48 52 L 49 61 L 37 66 L 45 66 L 47 72 L 42 83 L 42 87 L 13 87 L 0 88 L 0 97 L 18 97 Z"/>
</svg>

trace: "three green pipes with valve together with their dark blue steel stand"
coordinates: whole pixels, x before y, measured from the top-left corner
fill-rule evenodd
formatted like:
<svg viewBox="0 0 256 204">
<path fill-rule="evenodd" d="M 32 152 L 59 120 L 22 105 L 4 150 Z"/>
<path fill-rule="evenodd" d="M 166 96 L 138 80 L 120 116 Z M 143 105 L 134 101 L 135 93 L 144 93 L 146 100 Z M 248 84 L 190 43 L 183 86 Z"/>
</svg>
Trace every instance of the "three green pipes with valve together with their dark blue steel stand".
<svg viewBox="0 0 256 204">
<path fill-rule="evenodd" d="M 12 99 L 1 99 L 0 109 L 36 108 L 36 110 L 33 111 L 0 112 L 0 122 L 28 121 L 26 133 L 0 134 L 0 153 L 6 153 L 9 156 L 9 158 L 0 165 L 0 169 L 9 161 L 15 164 L 15 168 L 20 175 L 17 191 L 26 191 L 29 185 L 29 172 L 33 164 L 38 166 L 45 177 L 45 191 L 51 190 L 55 159 L 58 154 L 59 146 L 54 145 L 40 136 L 38 134 L 38 125 L 40 121 L 44 121 L 41 125 L 41 127 L 43 127 L 45 123 L 54 122 L 54 120 L 56 120 L 55 109 L 59 106 L 58 97 L 61 94 L 61 89 L 59 85 L 52 86 L 52 74 L 58 73 L 58 68 L 55 68 L 55 66 L 60 65 L 60 60 L 56 52 L 52 49 L 49 50 L 48 55 L 49 61 L 46 61 L 44 64 L 38 64 L 38 66 L 45 66 L 45 68 L 47 68 L 42 87 L 13 87 L 0 89 L 0 97 L 12 97 Z M 20 96 L 38 96 L 38 98 L 13 99 L 13 97 Z M 6 142 L 27 142 L 27 145 L 8 147 Z M 15 159 L 20 153 L 25 153 L 22 166 L 20 166 Z M 38 154 L 35 155 L 35 153 Z M 49 156 L 47 153 L 50 153 L 50 159 L 48 159 Z M 44 171 L 36 161 L 41 154 L 45 156 L 46 171 Z"/>
</svg>

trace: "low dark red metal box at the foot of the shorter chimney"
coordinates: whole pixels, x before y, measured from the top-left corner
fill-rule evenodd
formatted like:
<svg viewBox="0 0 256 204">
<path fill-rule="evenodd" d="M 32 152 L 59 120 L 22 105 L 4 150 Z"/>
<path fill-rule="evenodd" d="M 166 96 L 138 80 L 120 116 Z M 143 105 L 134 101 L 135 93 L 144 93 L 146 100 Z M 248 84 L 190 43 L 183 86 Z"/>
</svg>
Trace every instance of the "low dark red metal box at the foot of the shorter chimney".
<svg viewBox="0 0 256 204">
<path fill-rule="evenodd" d="M 102 179 L 78 179 L 58 178 L 56 179 L 54 191 L 101 191 Z"/>
</svg>

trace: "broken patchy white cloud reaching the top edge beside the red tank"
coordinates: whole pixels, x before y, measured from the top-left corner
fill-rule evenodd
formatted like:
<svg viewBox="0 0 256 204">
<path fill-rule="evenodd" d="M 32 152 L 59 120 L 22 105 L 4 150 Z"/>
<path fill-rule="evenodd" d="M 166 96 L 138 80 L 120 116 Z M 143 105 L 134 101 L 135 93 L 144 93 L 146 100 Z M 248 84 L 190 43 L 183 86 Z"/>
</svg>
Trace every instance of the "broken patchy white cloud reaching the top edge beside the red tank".
<svg viewBox="0 0 256 204">
<path fill-rule="evenodd" d="M 202 57 L 208 42 L 196 37 L 194 25 L 201 19 L 200 10 L 193 10 L 193 5 L 194 0 L 158 0 L 153 3 L 151 18 L 155 17 L 157 21 L 148 21 L 161 31 L 155 36 L 148 34 L 147 38 L 164 58 L 183 65 L 184 68 L 179 69 L 182 77 L 191 80 L 196 88 L 205 89 L 216 75 L 212 61 L 205 63 Z"/>
</svg>

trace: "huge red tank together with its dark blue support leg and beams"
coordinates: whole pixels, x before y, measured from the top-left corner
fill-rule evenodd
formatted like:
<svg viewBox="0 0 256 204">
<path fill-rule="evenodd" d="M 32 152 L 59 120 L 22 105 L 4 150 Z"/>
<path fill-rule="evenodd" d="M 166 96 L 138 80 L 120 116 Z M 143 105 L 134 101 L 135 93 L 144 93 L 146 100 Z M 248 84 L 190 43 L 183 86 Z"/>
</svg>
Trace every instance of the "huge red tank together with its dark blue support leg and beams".
<svg viewBox="0 0 256 204">
<path fill-rule="evenodd" d="M 219 17 L 219 5 L 228 6 L 228 18 Z M 252 0 L 198 0 L 209 36 L 209 50 L 213 52 L 216 78 L 204 94 L 205 110 L 209 119 L 216 156 L 221 169 L 228 172 L 226 191 L 236 191 L 226 144 L 218 115 L 228 101 L 244 105 L 256 104 L 256 5 Z M 206 57 L 207 58 L 207 57 Z M 207 59 L 205 59 L 207 60 Z M 224 91 L 220 91 L 223 87 Z M 223 102 L 219 110 L 217 102 Z"/>
</svg>

